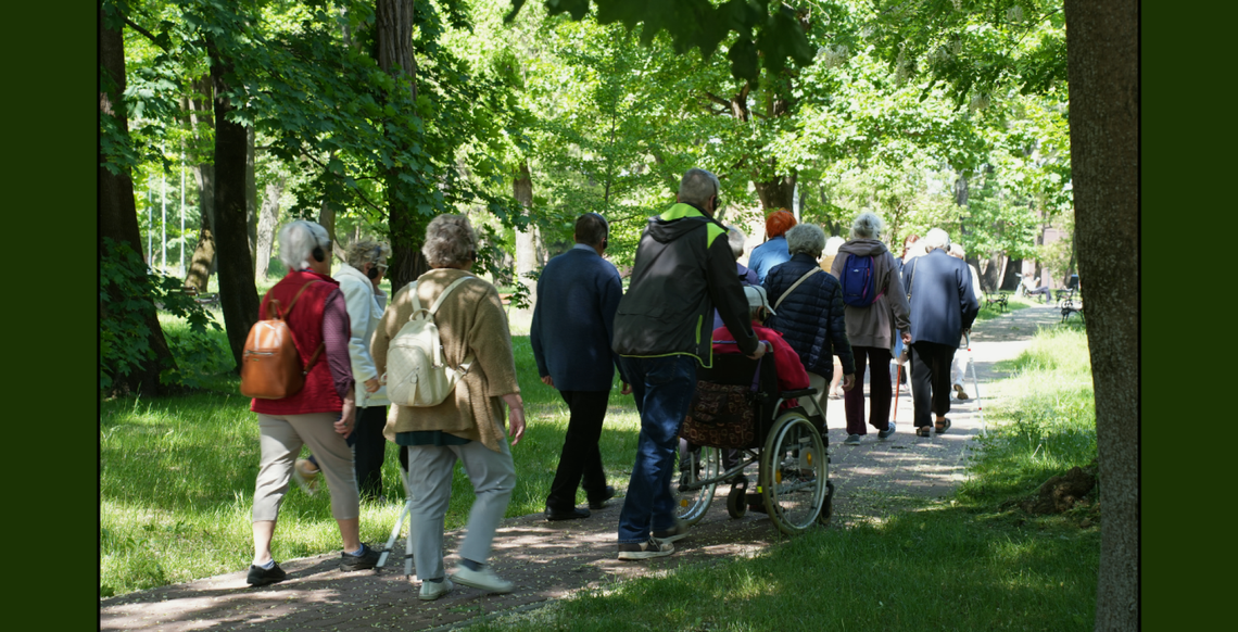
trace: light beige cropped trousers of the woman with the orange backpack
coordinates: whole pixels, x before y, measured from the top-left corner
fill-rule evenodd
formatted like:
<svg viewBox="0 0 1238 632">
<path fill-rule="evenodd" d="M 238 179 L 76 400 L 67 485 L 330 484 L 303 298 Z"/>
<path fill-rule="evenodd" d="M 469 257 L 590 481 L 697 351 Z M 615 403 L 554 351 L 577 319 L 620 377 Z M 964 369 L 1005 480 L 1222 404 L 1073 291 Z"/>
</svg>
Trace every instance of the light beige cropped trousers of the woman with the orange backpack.
<svg viewBox="0 0 1238 632">
<path fill-rule="evenodd" d="M 353 449 L 335 432 L 339 413 L 270 416 L 258 414 L 262 460 L 254 486 L 254 522 L 274 521 L 288 492 L 292 464 L 308 445 L 331 490 L 331 515 L 335 519 L 360 516 Z"/>
</svg>

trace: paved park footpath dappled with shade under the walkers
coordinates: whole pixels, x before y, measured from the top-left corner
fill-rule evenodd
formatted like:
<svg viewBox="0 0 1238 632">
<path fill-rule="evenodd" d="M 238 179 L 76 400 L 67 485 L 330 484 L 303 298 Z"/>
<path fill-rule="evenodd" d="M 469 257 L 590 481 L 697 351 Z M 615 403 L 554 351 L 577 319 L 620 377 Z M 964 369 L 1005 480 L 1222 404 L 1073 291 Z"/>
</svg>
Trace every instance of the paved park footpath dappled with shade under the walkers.
<svg viewBox="0 0 1238 632">
<path fill-rule="evenodd" d="M 1060 319 L 1061 313 L 1052 305 L 1035 305 L 976 324 L 972 357 L 982 399 L 974 398 L 968 372 L 966 383 L 972 399 L 954 402 L 950 414 L 953 425 L 946 434 L 915 437 L 911 398 L 904 388 L 894 437 L 878 442 L 877 433 L 870 432 L 860 445 L 843 445 L 847 433 L 842 401 L 829 401 L 829 477 L 837 489 L 829 528 L 880 522 L 951 493 L 966 477 L 972 439 L 983 432 L 980 407 L 994 395 L 987 387 L 1003 377 L 997 362 L 1016 357 L 1039 327 L 1056 327 Z M 968 351 L 958 352 L 966 359 Z M 168 632 L 449 630 L 534 610 L 581 589 L 604 589 L 617 581 L 664 574 L 681 564 L 750 557 L 786 540 L 761 513 L 732 519 L 725 510 L 725 490 L 718 486 L 709 513 L 690 537 L 675 544 L 673 555 L 647 562 L 615 559 L 621 497 L 583 521 L 550 523 L 540 513 L 509 518 L 495 536 L 490 560 L 499 576 L 515 583 L 516 590 L 509 595 L 487 595 L 457 585 L 437 601 L 420 601 L 418 584 L 404 574 L 400 539 L 396 554 L 378 571 L 343 573 L 338 569 L 339 553 L 284 560 L 280 565 L 290 578 L 259 589 L 245 584 L 243 569 L 102 600 L 99 626 Z M 448 571 L 459 559 L 454 552 L 461 536 L 457 531 L 444 538 Z"/>
</svg>

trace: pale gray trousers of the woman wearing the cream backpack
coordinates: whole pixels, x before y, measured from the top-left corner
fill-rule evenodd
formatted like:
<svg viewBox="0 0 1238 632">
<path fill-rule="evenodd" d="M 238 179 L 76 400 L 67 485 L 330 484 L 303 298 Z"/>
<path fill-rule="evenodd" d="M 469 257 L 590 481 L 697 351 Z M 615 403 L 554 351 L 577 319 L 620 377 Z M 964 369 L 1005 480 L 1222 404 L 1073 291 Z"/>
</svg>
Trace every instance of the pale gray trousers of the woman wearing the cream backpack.
<svg viewBox="0 0 1238 632">
<path fill-rule="evenodd" d="M 452 469 L 461 460 L 473 482 L 473 508 L 468 515 L 468 532 L 461 544 L 462 558 L 484 564 L 490 557 L 494 532 L 508 511 L 511 490 L 516 486 L 516 466 L 504 440 L 501 451 L 482 442 L 464 445 L 410 445 L 409 472 L 412 492 L 410 531 L 417 576 L 422 580 L 444 576 L 443 516 L 452 500 Z"/>
</svg>

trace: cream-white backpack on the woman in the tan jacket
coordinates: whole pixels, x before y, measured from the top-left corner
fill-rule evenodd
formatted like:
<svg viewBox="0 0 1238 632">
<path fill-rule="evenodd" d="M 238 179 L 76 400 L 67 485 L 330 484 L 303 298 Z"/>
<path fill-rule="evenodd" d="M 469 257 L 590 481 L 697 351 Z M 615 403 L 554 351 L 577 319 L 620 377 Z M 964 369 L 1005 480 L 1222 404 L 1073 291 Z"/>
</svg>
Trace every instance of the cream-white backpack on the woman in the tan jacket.
<svg viewBox="0 0 1238 632">
<path fill-rule="evenodd" d="M 391 339 L 387 348 L 387 370 L 383 376 L 391 403 L 417 408 L 438 406 L 456 390 L 456 382 L 468 374 L 473 364 L 472 355 L 464 359 L 459 369 L 452 369 L 443 362 L 443 345 L 438 339 L 435 313 L 443 304 L 443 299 L 469 278 L 472 277 L 462 277 L 447 286 L 430 309 L 423 309 L 421 301 L 417 299 L 417 283 L 412 283 L 409 288 L 412 297 L 412 315 Z"/>
</svg>

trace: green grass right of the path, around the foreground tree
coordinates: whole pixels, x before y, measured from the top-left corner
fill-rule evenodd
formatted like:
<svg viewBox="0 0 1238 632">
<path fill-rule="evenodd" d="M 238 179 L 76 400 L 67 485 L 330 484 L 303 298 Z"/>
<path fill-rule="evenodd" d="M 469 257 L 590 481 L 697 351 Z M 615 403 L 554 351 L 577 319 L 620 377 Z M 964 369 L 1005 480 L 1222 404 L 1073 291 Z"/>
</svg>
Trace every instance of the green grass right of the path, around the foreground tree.
<svg viewBox="0 0 1238 632">
<path fill-rule="evenodd" d="M 1094 512 L 1035 518 L 1004 501 L 1096 458 L 1087 343 L 1037 334 L 946 502 L 818 529 L 753 559 L 581 592 L 474 630 L 1091 630 Z M 1039 446 L 1039 449 L 1037 449 Z"/>
</svg>

